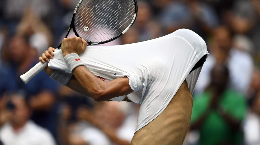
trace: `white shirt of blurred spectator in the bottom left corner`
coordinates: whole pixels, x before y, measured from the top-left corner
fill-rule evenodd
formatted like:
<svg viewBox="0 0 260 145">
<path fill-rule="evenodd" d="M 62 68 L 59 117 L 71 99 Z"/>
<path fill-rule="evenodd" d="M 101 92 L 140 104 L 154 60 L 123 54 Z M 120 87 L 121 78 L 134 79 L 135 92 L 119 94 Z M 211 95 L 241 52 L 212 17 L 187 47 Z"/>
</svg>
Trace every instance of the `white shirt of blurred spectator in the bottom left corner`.
<svg viewBox="0 0 260 145">
<path fill-rule="evenodd" d="M 11 124 L 4 124 L 0 129 L 0 140 L 4 145 L 55 145 L 51 134 L 31 121 L 18 132 L 14 132 Z"/>
</svg>

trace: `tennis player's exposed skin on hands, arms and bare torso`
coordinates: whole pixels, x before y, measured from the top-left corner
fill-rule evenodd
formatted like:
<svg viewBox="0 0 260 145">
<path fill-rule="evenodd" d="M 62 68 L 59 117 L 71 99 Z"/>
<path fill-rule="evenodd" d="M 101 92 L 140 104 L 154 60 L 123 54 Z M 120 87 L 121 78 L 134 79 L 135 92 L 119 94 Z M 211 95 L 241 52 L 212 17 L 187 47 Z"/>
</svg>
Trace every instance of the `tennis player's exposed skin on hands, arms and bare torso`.
<svg viewBox="0 0 260 145">
<path fill-rule="evenodd" d="M 79 43 L 81 45 L 79 45 Z M 81 54 L 85 51 L 85 44 L 86 42 L 83 39 L 76 37 L 64 39 L 61 46 L 63 56 L 70 53 Z M 41 62 L 48 62 L 49 58 L 53 58 L 54 50 L 54 48 L 49 48 L 39 60 Z M 54 70 L 46 67 L 45 72 L 51 75 Z M 93 75 L 85 66 L 77 67 L 74 69 L 73 74 L 74 76 L 67 86 L 79 93 L 94 98 L 96 101 L 109 100 L 133 92 L 129 85 L 129 79 L 126 77 L 117 78 L 112 81 L 102 81 Z M 163 113 L 147 126 L 137 131 L 134 134 L 131 144 L 183 144 L 189 128 L 192 105 L 192 96 L 185 80 Z"/>
</svg>

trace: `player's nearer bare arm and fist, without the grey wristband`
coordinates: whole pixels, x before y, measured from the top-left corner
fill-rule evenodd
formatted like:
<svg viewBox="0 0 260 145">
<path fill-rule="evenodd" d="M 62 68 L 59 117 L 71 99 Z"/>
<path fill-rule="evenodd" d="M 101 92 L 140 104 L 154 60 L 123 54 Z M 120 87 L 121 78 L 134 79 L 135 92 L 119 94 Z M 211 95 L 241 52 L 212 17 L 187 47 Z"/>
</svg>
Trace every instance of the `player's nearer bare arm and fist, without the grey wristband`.
<svg viewBox="0 0 260 145">
<path fill-rule="evenodd" d="M 63 57 L 66 61 L 66 55 L 78 54 L 85 52 L 87 42 L 80 37 L 64 38 L 61 45 Z M 67 57 L 71 58 L 71 56 Z M 71 58 L 71 60 L 74 60 Z M 68 62 L 67 62 L 68 63 Z M 96 101 L 109 100 L 118 96 L 127 95 L 133 90 L 129 85 L 127 77 L 117 78 L 112 81 L 103 81 L 93 75 L 85 65 L 72 69 L 73 75 L 84 88 L 90 97 Z"/>
</svg>

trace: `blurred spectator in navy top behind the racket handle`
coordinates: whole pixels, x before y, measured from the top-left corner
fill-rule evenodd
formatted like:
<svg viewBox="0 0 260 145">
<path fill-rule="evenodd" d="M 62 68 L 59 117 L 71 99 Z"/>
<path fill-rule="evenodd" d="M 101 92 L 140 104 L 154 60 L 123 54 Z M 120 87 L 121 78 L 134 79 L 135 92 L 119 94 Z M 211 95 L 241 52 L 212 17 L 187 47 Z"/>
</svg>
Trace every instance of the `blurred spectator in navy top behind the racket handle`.
<svg viewBox="0 0 260 145">
<path fill-rule="evenodd" d="M 29 98 L 33 111 L 32 120 L 55 135 L 57 83 L 50 80 L 44 72 L 40 72 L 29 83 L 24 84 L 19 76 L 36 64 L 36 55 L 34 57 L 31 55 L 35 54 L 35 50 L 30 47 L 28 37 L 25 35 L 15 35 L 11 42 L 6 51 L 8 61 L 1 69 L 4 77 L 0 80 L 0 96 L 3 96 L 4 93 L 23 91 Z M 42 82 L 43 85 L 38 82 Z"/>
</svg>

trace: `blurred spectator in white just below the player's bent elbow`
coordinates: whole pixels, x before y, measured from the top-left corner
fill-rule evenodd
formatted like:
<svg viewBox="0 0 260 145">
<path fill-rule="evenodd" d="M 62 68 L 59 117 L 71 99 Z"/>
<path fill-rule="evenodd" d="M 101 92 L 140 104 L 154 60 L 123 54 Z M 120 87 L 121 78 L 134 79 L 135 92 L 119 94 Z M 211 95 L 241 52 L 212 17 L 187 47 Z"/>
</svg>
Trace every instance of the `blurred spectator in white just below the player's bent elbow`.
<svg viewBox="0 0 260 145">
<path fill-rule="evenodd" d="M 79 118 L 92 124 L 91 127 L 82 131 L 82 138 L 89 144 L 98 145 L 95 141 L 98 139 L 98 136 L 92 134 L 95 131 L 96 134 L 103 138 L 104 142 L 109 144 L 130 144 L 137 125 L 134 121 L 134 119 L 137 119 L 137 115 L 126 116 L 124 109 L 121 108 L 126 104 L 128 103 L 105 102 L 102 103 L 102 106 L 96 106 L 97 108 L 95 108 L 93 115 L 88 110 L 79 110 Z M 99 142 L 99 144 L 102 143 Z"/>
</svg>

